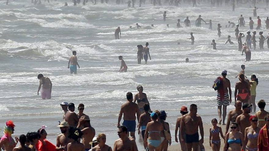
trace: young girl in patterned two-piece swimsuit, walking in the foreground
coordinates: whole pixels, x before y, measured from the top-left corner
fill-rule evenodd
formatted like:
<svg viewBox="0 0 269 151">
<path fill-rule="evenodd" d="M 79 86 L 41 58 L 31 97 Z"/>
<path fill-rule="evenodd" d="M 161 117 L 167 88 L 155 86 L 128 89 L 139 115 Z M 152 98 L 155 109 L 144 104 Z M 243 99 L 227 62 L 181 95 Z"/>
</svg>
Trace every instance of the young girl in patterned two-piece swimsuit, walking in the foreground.
<svg viewBox="0 0 269 151">
<path fill-rule="evenodd" d="M 214 118 L 211 120 L 211 123 L 212 123 L 213 127 L 211 127 L 209 129 L 209 133 L 210 133 L 209 145 L 210 145 L 210 147 L 212 147 L 212 151 L 219 151 L 220 142 L 221 142 L 220 138 L 219 138 L 219 134 L 223 138 L 224 141 L 225 141 L 225 138 L 223 136 L 221 127 L 217 126 L 218 120 L 216 118 Z"/>
</svg>

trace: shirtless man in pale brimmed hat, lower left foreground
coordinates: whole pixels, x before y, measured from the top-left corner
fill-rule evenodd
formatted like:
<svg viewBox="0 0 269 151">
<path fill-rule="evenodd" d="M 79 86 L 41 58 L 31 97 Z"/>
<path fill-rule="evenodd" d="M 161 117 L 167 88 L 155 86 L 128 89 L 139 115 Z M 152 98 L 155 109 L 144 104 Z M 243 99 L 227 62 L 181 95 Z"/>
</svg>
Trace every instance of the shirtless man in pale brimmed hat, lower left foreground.
<svg viewBox="0 0 269 151">
<path fill-rule="evenodd" d="M 69 125 L 67 122 L 61 122 L 57 127 L 61 129 L 61 134 L 56 138 L 56 150 L 67 151 L 67 144 L 71 142 L 68 138 Z"/>
</svg>

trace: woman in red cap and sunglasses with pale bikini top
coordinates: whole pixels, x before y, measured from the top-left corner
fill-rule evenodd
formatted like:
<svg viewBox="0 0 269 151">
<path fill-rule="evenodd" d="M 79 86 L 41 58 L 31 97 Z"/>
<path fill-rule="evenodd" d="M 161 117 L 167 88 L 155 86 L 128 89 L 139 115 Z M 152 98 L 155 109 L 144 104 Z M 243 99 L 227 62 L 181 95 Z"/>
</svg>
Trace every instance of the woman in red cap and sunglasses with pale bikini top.
<svg viewBox="0 0 269 151">
<path fill-rule="evenodd" d="M 258 118 L 256 116 L 250 116 L 249 121 L 251 123 L 251 126 L 245 129 L 246 151 L 257 151 L 258 135 L 260 132 L 260 128 L 257 127 Z"/>
</svg>

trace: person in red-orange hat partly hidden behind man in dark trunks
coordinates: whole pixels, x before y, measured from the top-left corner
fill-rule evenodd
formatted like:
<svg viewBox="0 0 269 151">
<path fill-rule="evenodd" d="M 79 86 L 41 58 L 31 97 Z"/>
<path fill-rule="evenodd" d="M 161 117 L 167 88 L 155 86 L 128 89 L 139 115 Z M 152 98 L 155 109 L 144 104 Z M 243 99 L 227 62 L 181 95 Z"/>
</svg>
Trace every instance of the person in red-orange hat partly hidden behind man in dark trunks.
<svg viewBox="0 0 269 151">
<path fill-rule="evenodd" d="M 188 113 L 188 108 L 186 106 L 181 106 L 180 113 L 181 113 L 182 116 L 187 114 Z M 176 124 L 175 124 L 175 142 L 179 142 L 180 146 L 181 146 L 181 150 L 186 151 L 187 150 L 186 149 L 186 144 L 185 144 L 185 142 L 182 142 L 181 136 L 180 136 L 180 122 L 181 122 L 182 116 L 178 117 L 177 120 L 176 120 Z M 177 137 L 178 130 L 179 130 L 179 141 L 178 141 L 178 137 Z M 186 134 L 183 134 L 183 135 L 186 136 Z"/>
</svg>

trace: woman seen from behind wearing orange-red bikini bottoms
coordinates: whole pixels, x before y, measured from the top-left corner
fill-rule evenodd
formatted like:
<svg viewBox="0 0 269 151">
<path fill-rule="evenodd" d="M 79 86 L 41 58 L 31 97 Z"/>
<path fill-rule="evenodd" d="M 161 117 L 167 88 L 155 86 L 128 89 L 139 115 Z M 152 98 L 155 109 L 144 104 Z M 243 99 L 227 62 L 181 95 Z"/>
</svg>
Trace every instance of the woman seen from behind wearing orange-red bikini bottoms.
<svg viewBox="0 0 269 151">
<path fill-rule="evenodd" d="M 250 85 L 245 81 L 245 75 L 242 73 L 239 74 L 239 82 L 235 84 L 234 99 L 242 103 L 247 103 L 250 99 Z"/>
</svg>

